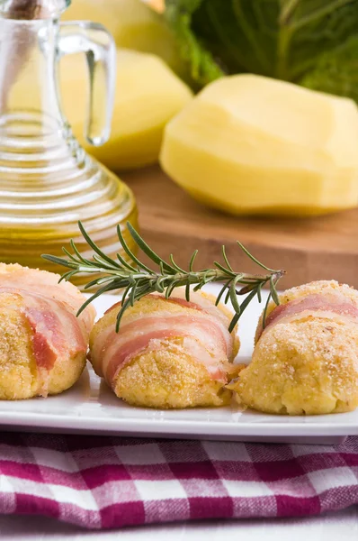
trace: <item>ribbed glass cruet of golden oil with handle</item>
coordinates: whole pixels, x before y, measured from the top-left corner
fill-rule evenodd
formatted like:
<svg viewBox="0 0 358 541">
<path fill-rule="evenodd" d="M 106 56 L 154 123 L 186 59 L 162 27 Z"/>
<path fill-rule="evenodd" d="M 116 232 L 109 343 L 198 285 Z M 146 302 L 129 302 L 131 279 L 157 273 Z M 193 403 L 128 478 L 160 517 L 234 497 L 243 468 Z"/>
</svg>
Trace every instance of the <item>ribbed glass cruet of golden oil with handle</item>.
<svg viewBox="0 0 358 541">
<path fill-rule="evenodd" d="M 49 271 L 56 268 L 40 254 L 62 254 L 71 238 L 90 257 L 78 220 L 110 256 L 121 248 L 116 225 L 131 247 L 126 222 L 137 225 L 130 188 L 85 153 L 61 111 L 59 61 L 83 52 L 90 81 L 85 136 L 94 145 L 108 139 L 115 47 L 99 24 L 59 23 L 69 4 L 0 0 L 0 261 Z"/>
</svg>

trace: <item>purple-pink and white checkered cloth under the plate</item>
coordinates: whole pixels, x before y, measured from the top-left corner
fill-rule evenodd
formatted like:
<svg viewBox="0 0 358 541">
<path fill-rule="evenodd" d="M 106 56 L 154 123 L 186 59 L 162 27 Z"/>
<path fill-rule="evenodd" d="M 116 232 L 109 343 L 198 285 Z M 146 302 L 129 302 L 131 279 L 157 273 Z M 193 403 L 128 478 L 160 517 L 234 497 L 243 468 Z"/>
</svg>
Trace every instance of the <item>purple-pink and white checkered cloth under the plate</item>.
<svg viewBox="0 0 358 541">
<path fill-rule="evenodd" d="M 316 515 L 358 503 L 358 437 L 260 445 L 2 434 L 0 513 L 87 528 Z"/>
</svg>

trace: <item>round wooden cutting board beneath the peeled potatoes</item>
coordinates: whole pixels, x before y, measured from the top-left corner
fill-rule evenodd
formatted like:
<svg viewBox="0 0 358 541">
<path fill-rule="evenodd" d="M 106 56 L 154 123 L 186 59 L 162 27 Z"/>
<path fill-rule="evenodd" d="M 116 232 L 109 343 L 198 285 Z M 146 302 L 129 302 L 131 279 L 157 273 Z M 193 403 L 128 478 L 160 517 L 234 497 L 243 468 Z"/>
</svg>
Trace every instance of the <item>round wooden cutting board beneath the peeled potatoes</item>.
<svg viewBox="0 0 358 541">
<path fill-rule="evenodd" d="M 358 209 L 304 219 L 235 217 L 201 206 L 157 166 L 121 178 L 137 197 L 144 238 L 184 268 L 195 249 L 196 268 L 211 267 L 225 244 L 237 271 L 254 271 L 239 240 L 268 267 L 287 271 L 282 287 L 335 279 L 358 288 Z"/>
</svg>

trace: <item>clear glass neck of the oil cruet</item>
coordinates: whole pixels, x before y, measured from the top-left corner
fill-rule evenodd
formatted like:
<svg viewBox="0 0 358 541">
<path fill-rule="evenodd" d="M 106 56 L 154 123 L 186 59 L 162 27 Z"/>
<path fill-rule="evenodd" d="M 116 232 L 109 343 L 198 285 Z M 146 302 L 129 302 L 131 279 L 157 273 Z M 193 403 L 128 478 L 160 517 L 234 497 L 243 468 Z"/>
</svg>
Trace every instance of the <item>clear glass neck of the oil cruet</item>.
<svg viewBox="0 0 358 541">
<path fill-rule="evenodd" d="M 0 126 L 18 115 L 36 119 L 36 130 L 42 132 L 65 124 L 58 99 L 57 42 L 57 20 L 0 17 Z"/>
</svg>

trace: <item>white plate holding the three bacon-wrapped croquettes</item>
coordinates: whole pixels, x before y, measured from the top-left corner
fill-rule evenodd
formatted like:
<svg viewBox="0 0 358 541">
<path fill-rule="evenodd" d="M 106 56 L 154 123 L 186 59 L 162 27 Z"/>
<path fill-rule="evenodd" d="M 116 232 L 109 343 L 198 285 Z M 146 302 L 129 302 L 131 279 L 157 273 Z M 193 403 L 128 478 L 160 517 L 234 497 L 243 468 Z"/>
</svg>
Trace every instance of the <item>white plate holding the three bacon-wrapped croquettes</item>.
<svg viewBox="0 0 358 541">
<path fill-rule="evenodd" d="M 211 286 L 208 291 L 216 292 Z M 98 315 L 118 298 L 106 295 L 94 305 Z M 240 323 L 240 362 L 252 353 L 255 325 L 262 307 L 251 303 Z M 128 406 L 87 367 L 76 385 L 48 399 L 0 400 L 0 426 L 6 430 L 96 433 L 143 437 L 181 437 L 262 442 L 331 444 L 358 435 L 358 410 L 326 416 L 288 417 L 230 408 L 163 411 Z"/>
</svg>

